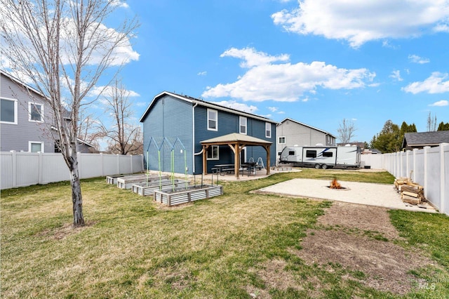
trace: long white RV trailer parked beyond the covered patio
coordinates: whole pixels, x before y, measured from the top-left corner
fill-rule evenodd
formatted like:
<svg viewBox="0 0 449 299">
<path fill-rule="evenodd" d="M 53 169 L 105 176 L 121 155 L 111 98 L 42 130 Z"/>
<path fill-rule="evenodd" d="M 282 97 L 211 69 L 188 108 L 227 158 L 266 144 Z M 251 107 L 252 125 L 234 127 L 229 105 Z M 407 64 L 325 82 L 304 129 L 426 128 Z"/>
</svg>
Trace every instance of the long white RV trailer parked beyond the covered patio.
<svg viewBox="0 0 449 299">
<path fill-rule="evenodd" d="M 355 145 L 344 147 L 284 147 L 279 161 L 299 167 L 349 168 L 360 167 L 361 150 Z"/>
</svg>

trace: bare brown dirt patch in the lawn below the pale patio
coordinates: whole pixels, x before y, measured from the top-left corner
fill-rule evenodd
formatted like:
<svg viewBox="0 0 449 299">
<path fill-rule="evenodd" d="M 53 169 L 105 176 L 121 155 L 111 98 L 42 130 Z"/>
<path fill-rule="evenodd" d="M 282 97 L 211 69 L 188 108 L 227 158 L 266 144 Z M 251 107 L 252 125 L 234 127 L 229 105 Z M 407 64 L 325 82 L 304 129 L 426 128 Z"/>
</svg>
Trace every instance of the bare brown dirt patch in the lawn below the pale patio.
<svg viewBox="0 0 449 299">
<path fill-rule="evenodd" d="M 415 277 L 408 272 L 431 264 L 429 258 L 388 241 L 397 239 L 398 233 L 385 208 L 334 202 L 319 225 L 323 229 L 310 230 L 302 250 L 294 253 L 308 265 L 342 265 L 350 272 L 363 272 L 363 278 L 351 279 L 379 291 L 410 292 Z M 377 234 L 386 239 L 373 237 Z"/>
</svg>

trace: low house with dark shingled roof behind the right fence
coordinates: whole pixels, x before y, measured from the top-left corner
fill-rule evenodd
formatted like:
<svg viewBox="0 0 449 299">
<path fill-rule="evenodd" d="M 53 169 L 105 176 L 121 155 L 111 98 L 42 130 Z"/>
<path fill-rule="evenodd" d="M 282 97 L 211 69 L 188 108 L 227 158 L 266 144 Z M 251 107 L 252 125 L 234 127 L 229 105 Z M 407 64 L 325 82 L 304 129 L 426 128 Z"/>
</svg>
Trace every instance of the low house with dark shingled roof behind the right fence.
<svg viewBox="0 0 449 299">
<path fill-rule="evenodd" d="M 436 147 L 440 143 L 449 143 L 449 131 L 405 133 L 401 150 Z"/>
</svg>

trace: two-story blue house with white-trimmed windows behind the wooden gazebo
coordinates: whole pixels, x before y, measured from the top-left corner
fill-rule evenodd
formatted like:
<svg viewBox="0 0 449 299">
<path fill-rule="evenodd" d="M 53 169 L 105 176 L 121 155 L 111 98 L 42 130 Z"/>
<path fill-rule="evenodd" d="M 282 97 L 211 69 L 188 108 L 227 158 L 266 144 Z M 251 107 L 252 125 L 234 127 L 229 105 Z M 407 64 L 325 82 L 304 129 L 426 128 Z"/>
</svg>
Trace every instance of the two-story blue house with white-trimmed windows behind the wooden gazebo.
<svg viewBox="0 0 449 299">
<path fill-rule="evenodd" d="M 160 166 L 161 171 L 203 173 L 201 141 L 231 133 L 272 142 L 272 147 L 276 140 L 276 121 L 166 91 L 153 98 L 140 122 L 143 123 L 144 157 L 151 170 L 159 170 Z M 170 156 L 171 149 L 175 157 Z M 241 151 L 239 161 L 247 162 L 251 158 L 257 161 L 259 157 L 267 166 L 264 148 L 248 146 Z M 269 157 L 276 161 L 274 150 Z M 211 145 L 207 152 L 207 172 L 217 164 L 234 164 L 234 158 L 229 146 Z"/>
</svg>

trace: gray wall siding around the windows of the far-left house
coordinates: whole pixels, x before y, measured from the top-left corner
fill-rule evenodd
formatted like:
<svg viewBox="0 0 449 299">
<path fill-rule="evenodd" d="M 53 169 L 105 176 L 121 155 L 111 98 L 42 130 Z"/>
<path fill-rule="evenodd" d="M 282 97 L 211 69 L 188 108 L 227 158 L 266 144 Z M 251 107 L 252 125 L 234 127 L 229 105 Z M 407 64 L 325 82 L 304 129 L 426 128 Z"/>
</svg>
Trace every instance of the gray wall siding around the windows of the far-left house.
<svg viewBox="0 0 449 299">
<path fill-rule="evenodd" d="M 55 143 L 51 138 L 51 131 L 48 128 L 53 124 L 51 107 L 43 100 L 41 95 L 32 91 L 27 93 L 25 88 L 3 74 L 0 77 L 0 98 L 18 101 L 17 124 L 0 124 L 1 152 L 11 150 L 28 152 L 30 141 L 43 142 L 44 152 L 55 152 Z M 44 121 L 46 123 L 29 121 L 28 103 L 33 101 L 43 105 Z"/>
</svg>

